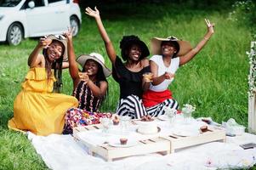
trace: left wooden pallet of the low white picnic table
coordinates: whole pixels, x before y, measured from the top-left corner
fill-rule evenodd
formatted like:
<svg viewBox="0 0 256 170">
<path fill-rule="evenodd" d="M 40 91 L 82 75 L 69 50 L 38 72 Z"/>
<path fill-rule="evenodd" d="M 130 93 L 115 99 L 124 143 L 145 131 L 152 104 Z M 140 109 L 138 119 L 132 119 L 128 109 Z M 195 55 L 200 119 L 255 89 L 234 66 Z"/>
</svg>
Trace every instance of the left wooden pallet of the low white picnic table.
<svg viewBox="0 0 256 170">
<path fill-rule="evenodd" d="M 77 133 L 86 132 L 90 130 L 97 130 L 102 128 L 102 125 L 90 125 L 86 127 L 74 128 L 73 134 L 88 147 L 88 150 L 94 156 L 95 154 L 102 156 L 106 161 L 113 161 L 117 158 L 127 156 L 137 156 L 149 153 L 160 153 L 166 155 L 170 153 L 170 141 L 160 137 L 153 139 L 139 140 L 137 145 L 131 147 L 113 147 L 110 144 L 94 145 L 89 143 L 86 139 L 79 139 Z"/>
</svg>

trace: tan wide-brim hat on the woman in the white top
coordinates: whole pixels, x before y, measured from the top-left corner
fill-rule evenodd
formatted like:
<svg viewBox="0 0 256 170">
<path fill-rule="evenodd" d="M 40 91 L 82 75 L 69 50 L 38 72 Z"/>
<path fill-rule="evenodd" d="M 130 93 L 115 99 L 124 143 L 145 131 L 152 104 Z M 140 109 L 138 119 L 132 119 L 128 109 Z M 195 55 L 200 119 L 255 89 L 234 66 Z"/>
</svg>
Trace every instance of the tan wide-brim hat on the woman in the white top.
<svg viewBox="0 0 256 170">
<path fill-rule="evenodd" d="M 162 37 L 153 37 L 151 39 L 151 52 L 152 54 L 162 54 L 162 48 L 161 48 L 161 43 L 162 42 L 178 42 L 179 44 L 179 52 L 177 54 L 177 56 L 182 56 L 187 54 L 191 49 L 191 43 L 187 42 L 187 41 L 182 41 L 179 40 L 177 37 L 166 37 L 166 38 L 162 38 Z"/>
</svg>

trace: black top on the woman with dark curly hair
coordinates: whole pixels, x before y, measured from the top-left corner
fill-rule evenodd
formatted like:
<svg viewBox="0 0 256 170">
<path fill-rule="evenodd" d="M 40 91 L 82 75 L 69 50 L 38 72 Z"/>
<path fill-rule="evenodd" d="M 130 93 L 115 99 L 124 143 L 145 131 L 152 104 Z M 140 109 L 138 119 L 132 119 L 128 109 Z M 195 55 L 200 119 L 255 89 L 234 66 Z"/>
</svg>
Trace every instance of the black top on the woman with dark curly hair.
<svg viewBox="0 0 256 170">
<path fill-rule="evenodd" d="M 143 94 L 142 75 L 150 71 L 150 66 L 146 66 L 138 72 L 129 71 L 117 56 L 115 66 L 113 66 L 112 76 L 119 83 L 120 99 L 125 99 L 131 94 L 137 95 L 141 99 Z"/>
</svg>

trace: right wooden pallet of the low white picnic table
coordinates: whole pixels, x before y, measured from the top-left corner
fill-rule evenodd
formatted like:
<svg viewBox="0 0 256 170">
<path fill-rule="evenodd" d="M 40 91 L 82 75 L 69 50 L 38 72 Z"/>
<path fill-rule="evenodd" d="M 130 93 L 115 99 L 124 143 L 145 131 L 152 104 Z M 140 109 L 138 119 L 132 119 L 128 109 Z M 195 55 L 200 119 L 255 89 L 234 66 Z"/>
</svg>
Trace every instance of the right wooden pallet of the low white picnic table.
<svg viewBox="0 0 256 170">
<path fill-rule="evenodd" d="M 171 153 L 174 153 L 177 149 L 190 147 L 196 144 L 205 144 L 213 141 L 225 142 L 225 130 L 221 128 L 208 127 L 208 131 L 205 133 L 199 133 L 198 136 L 181 137 L 174 134 L 163 137 L 168 139 L 171 143 Z"/>
</svg>

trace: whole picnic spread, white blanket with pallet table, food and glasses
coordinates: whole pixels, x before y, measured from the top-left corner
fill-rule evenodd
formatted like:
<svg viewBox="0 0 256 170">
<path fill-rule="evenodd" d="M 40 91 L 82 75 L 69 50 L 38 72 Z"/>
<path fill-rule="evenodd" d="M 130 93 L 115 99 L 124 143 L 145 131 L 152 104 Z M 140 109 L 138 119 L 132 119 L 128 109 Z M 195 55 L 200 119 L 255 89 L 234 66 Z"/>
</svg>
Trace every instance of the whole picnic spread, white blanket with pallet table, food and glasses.
<svg viewBox="0 0 256 170">
<path fill-rule="evenodd" d="M 232 121 L 225 126 L 230 128 Z M 149 128 L 152 133 L 138 130 L 147 129 L 141 120 L 120 117 L 117 123 L 114 117 L 76 127 L 73 136 L 28 133 L 28 138 L 51 169 L 222 169 L 256 163 L 256 148 L 240 146 L 256 143 L 251 133 L 229 129 L 226 136 L 227 128 L 211 119 L 182 115 L 175 121 L 159 116 L 152 122 L 156 126 L 156 131 Z"/>
</svg>

